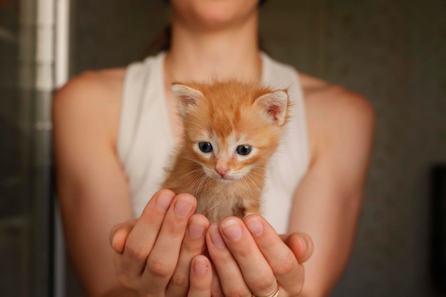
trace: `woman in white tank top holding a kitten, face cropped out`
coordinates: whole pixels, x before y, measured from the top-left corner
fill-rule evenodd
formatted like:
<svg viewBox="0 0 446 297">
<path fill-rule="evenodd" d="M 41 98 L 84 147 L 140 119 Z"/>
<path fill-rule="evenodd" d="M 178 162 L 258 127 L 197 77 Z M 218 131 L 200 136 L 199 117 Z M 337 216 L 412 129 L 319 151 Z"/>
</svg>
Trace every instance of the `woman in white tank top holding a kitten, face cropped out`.
<svg viewBox="0 0 446 297">
<path fill-rule="evenodd" d="M 58 197 L 85 292 L 327 296 L 353 244 L 373 135 L 370 105 L 259 53 L 258 0 L 171 6 L 168 51 L 126 69 L 83 73 L 54 98 Z M 277 182 L 280 168 L 269 177 L 275 192 L 266 195 L 265 217 L 209 226 L 193 214 L 190 194 L 150 196 L 182 130 L 172 81 L 215 75 L 291 83 L 300 108 L 286 145 L 291 155 L 284 155 L 295 159 L 279 162 L 291 179 Z"/>
</svg>

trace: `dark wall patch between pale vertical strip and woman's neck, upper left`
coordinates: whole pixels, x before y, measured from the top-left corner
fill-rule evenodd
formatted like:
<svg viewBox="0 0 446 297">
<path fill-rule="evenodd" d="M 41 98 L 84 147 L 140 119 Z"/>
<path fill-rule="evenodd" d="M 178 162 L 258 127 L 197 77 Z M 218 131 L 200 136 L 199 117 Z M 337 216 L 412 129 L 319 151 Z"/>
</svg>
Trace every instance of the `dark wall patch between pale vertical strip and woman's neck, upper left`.
<svg viewBox="0 0 446 297">
<path fill-rule="evenodd" d="M 125 66 L 144 57 L 164 28 L 163 1 L 72 0 L 71 73 Z"/>
</svg>

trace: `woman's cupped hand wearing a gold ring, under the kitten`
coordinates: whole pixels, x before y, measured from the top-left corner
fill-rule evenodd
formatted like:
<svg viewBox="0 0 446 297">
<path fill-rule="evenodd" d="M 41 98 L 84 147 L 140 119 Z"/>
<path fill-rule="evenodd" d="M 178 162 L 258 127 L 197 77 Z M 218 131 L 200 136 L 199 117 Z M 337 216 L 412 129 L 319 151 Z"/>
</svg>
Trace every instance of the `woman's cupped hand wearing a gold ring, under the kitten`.
<svg viewBox="0 0 446 297">
<path fill-rule="evenodd" d="M 209 226 L 207 249 L 218 278 L 212 296 L 299 296 L 301 265 L 313 253 L 306 234 L 279 236 L 265 219 L 230 217 Z"/>
</svg>

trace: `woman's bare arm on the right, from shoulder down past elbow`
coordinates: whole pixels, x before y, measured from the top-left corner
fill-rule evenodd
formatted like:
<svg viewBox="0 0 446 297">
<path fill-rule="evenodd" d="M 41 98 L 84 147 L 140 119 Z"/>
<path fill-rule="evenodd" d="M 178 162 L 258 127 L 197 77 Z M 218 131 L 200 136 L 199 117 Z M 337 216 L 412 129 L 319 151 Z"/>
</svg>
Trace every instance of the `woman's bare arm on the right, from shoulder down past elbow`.
<svg viewBox="0 0 446 297">
<path fill-rule="evenodd" d="M 314 244 L 313 256 L 304 264 L 302 296 L 328 296 L 353 247 L 374 115 L 360 95 L 311 78 L 301 80 L 311 162 L 296 191 L 289 231 L 308 234 Z"/>
</svg>

